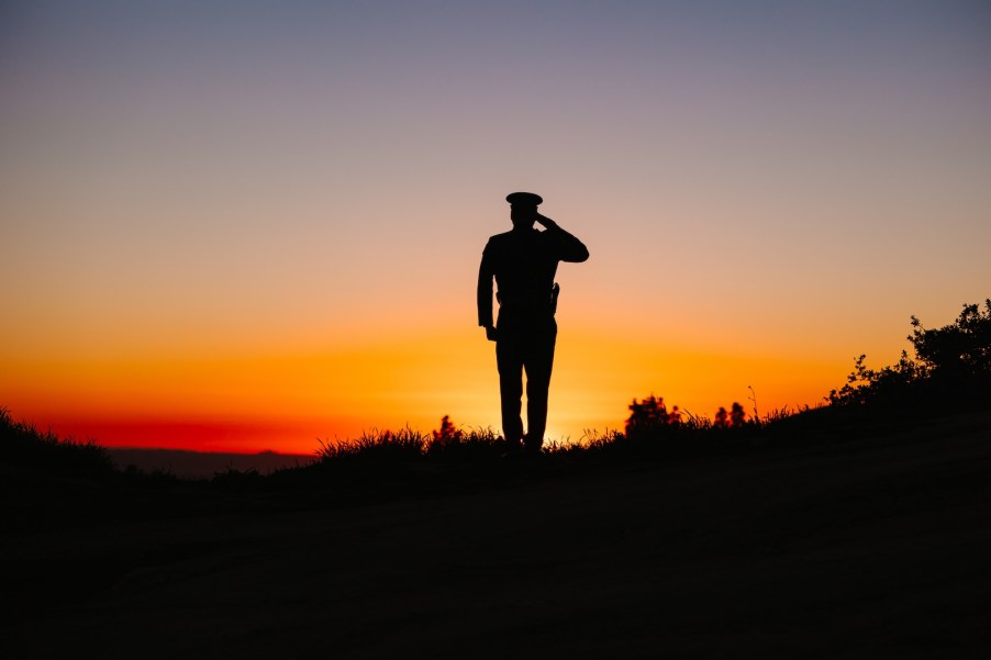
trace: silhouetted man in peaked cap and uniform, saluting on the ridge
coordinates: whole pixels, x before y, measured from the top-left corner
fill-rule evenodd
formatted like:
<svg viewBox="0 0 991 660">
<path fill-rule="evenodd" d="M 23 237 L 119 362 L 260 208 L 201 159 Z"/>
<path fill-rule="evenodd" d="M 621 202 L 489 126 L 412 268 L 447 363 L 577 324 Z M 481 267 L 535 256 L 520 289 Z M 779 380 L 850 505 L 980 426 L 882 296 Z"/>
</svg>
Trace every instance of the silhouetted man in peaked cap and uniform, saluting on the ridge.
<svg viewBox="0 0 991 660">
<path fill-rule="evenodd" d="M 537 212 L 544 200 L 532 192 L 513 192 L 510 203 L 513 230 L 489 238 L 478 270 L 478 324 L 496 342 L 499 392 L 502 396 L 502 433 L 509 452 L 538 454 L 547 427 L 547 390 L 557 339 L 557 294 L 554 282 L 558 261 L 580 262 L 589 250 L 549 217 Z M 541 232 L 534 223 L 545 227 Z M 499 323 L 492 324 L 492 278 L 499 288 Z M 526 371 L 526 421 L 520 417 L 523 371 Z"/>
</svg>

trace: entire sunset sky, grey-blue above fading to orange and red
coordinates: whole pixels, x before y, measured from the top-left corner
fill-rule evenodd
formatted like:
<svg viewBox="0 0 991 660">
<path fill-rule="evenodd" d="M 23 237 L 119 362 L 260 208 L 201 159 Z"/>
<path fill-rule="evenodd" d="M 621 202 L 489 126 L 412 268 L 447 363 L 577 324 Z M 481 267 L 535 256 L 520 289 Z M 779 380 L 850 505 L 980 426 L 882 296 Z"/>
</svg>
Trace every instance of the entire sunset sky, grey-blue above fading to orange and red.
<svg viewBox="0 0 991 660">
<path fill-rule="evenodd" d="M 499 428 L 509 192 L 548 439 L 815 405 L 991 297 L 984 1 L 7 1 L 0 406 L 108 446 Z"/>
</svg>

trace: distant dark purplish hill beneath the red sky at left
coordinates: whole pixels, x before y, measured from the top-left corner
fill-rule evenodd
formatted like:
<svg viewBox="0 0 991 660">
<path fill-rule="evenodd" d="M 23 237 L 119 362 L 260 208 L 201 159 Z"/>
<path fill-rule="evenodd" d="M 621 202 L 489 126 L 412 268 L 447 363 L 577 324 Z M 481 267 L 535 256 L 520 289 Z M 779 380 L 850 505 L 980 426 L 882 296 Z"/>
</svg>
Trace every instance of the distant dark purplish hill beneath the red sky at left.
<svg viewBox="0 0 991 660">
<path fill-rule="evenodd" d="M 141 449 L 130 447 L 108 447 L 107 452 L 120 469 L 134 466 L 145 472 L 162 471 L 185 479 L 209 479 L 216 472 L 229 469 L 256 470 L 268 474 L 282 468 L 294 468 L 313 461 L 315 455 L 276 454 L 214 454 L 205 451 L 183 451 L 181 449 Z"/>
</svg>

